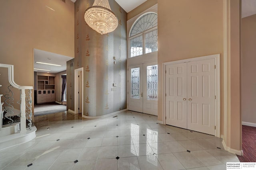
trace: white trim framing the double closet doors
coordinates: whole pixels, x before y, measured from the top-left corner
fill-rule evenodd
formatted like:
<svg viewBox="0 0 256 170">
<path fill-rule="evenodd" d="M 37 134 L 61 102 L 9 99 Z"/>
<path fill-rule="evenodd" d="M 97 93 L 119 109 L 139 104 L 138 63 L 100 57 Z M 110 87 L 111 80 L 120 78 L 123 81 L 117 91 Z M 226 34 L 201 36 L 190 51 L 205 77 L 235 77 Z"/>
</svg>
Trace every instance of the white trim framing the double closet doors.
<svg viewBox="0 0 256 170">
<path fill-rule="evenodd" d="M 214 54 L 214 55 L 207 55 L 207 56 L 202 56 L 202 57 L 195 57 L 195 58 L 191 58 L 191 59 L 184 59 L 184 60 L 178 60 L 178 61 L 171 61 L 171 62 L 166 62 L 163 63 L 163 78 L 164 78 L 164 82 L 163 82 L 163 123 L 166 124 L 166 98 L 165 98 L 165 94 L 166 94 L 166 65 L 169 64 L 177 64 L 177 63 L 184 63 L 184 62 L 191 62 L 191 61 L 199 61 L 199 60 L 205 60 L 205 59 L 215 59 L 215 65 L 216 65 L 216 69 L 215 69 L 215 93 L 216 93 L 216 104 L 215 104 L 215 125 L 216 125 L 216 130 L 215 130 L 215 136 L 216 137 L 220 137 L 220 54 Z"/>
</svg>

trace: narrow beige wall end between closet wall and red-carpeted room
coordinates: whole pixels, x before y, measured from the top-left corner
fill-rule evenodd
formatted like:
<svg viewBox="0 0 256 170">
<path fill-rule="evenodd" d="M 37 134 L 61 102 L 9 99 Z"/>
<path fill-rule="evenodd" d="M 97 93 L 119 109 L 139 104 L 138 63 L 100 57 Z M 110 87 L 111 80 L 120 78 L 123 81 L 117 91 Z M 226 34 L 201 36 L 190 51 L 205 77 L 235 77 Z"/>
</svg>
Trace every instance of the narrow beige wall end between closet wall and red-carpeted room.
<svg viewBox="0 0 256 170">
<path fill-rule="evenodd" d="M 227 146 L 231 149 L 242 149 L 241 128 L 240 0 L 230 0 L 230 145 Z"/>
</svg>

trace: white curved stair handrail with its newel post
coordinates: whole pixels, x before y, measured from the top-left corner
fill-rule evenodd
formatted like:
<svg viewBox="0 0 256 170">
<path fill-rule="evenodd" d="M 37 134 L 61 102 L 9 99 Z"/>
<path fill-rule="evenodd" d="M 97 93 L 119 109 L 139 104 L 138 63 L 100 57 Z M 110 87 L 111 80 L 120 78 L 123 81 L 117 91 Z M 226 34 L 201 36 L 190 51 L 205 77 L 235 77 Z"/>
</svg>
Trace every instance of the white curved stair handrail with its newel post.
<svg viewBox="0 0 256 170">
<path fill-rule="evenodd" d="M 14 82 L 14 65 L 11 64 L 1 64 L 0 67 L 8 68 L 8 80 L 9 83 L 19 90 L 21 90 L 20 94 L 20 132 L 26 132 L 26 94 L 25 90 L 32 90 L 33 86 L 20 86 Z M 31 106 L 30 106 L 30 113 Z M 30 116 L 31 121 L 31 116 Z M 30 122 L 30 129 L 31 129 L 31 122 Z"/>
</svg>

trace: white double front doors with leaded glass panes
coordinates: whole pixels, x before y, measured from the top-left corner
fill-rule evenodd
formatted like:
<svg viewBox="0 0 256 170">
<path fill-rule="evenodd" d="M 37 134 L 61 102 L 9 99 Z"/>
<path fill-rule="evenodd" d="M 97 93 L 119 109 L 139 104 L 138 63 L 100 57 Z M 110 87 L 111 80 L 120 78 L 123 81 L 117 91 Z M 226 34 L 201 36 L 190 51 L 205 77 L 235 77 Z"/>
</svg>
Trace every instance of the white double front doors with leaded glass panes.
<svg viewBox="0 0 256 170">
<path fill-rule="evenodd" d="M 128 67 L 128 109 L 157 115 L 158 65 L 156 62 Z"/>
</svg>

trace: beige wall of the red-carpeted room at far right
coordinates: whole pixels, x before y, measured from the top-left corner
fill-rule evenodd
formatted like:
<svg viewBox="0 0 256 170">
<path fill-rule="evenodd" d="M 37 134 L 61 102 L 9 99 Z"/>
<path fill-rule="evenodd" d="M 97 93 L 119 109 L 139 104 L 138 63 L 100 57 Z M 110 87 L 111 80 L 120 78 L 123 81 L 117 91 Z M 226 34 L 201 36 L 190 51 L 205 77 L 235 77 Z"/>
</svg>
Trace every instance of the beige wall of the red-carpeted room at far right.
<svg viewBox="0 0 256 170">
<path fill-rule="evenodd" d="M 256 123 L 256 15 L 242 18 L 242 121 Z"/>
</svg>

